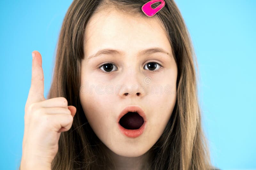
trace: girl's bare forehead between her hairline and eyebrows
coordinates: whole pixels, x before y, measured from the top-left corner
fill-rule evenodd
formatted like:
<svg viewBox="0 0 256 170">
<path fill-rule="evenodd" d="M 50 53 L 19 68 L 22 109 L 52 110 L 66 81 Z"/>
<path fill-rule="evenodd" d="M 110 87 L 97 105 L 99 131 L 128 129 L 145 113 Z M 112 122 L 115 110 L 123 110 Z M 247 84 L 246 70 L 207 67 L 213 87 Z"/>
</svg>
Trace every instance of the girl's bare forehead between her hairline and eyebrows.
<svg viewBox="0 0 256 170">
<path fill-rule="evenodd" d="M 169 39 L 156 18 L 133 17 L 116 10 L 100 11 L 90 18 L 85 28 L 87 57 L 103 48 L 135 54 L 150 47 L 160 47 L 171 53 Z"/>
</svg>

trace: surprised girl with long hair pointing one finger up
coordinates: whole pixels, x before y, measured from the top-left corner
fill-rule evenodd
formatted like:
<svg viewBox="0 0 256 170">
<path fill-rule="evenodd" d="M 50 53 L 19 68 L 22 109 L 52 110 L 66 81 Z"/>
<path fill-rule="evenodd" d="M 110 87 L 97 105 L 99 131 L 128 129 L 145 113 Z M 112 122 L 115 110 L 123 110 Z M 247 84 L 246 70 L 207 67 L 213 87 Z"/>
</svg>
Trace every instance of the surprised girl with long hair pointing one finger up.
<svg viewBox="0 0 256 170">
<path fill-rule="evenodd" d="M 212 168 L 184 20 L 172 0 L 152 17 L 147 2 L 75 0 L 47 100 L 33 52 L 21 170 Z"/>
</svg>

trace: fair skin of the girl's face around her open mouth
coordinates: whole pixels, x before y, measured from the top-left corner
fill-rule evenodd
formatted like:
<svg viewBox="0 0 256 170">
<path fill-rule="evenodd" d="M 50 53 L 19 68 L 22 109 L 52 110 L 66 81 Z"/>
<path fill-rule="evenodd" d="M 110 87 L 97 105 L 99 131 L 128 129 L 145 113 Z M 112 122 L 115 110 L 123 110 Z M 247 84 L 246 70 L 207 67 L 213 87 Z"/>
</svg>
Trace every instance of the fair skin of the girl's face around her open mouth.
<svg viewBox="0 0 256 170">
<path fill-rule="evenodd" d="M 169 40 L 154 18 L 117 11 L 93 15 L 85 30 L 79 94 L 85 116 L 111 151 L 138 157 L 160 138 L 176 102 L 177 65 Z M 156 50 L 140 53 L 155 47 L 168 54 Z M 93 57 L 102 49 L 122 54 Z M 140 106 L 148 120 L 136 138 L 125 136 L 117 123 L 121 111 L 131 105 Z"/>
</svg>

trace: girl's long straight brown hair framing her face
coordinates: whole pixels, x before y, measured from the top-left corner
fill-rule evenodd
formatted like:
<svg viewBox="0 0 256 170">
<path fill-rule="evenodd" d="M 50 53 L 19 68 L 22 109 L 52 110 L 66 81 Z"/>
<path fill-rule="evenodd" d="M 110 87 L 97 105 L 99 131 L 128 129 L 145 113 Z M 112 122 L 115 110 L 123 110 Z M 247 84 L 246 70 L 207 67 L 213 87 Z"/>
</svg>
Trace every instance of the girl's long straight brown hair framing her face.
<svg viewBox="0 0 256 170">
<path fill-rule="evenodd" d="M 79 100 L 81 60 L 85 26 L 91 16 L 106 8 L 147 17 L 141 10 L 148 0 L 74 0 L 60 30 L 52 85 L 47 99 L 65 97 L 76 107 L 69 131 L 62 132 L 52 169 L 115 169 L 104 144 L 90 127 Z M 197 98 L 197 62 L 190 36 L 180 11 L 172 0 L 154 17 L 170 40 L 178 66 L 177 101 L 164 133 L 149 150 L 145 169 L 210 169 L 207 140 L 201 126 Z M 153 4 L 155 8 L 159 4 Z M 196 67 L 195 67 L 196 66 Z"/>
</svg>

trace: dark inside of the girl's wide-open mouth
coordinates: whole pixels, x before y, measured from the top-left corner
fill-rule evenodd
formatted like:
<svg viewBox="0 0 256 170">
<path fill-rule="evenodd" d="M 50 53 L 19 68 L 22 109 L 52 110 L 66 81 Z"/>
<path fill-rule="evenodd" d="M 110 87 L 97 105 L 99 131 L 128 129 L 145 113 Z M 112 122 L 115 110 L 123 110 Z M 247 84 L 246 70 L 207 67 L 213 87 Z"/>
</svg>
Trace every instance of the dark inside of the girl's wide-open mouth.
<svg viewBox="0 0 256 170">
<path fill-rule="evenodd" d="M 119 120 L 119 124 L 125 129 L 139 129 L 143 123 L 143 117 L 137 112 L 128 112 Z"/>
</svg>

